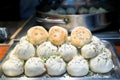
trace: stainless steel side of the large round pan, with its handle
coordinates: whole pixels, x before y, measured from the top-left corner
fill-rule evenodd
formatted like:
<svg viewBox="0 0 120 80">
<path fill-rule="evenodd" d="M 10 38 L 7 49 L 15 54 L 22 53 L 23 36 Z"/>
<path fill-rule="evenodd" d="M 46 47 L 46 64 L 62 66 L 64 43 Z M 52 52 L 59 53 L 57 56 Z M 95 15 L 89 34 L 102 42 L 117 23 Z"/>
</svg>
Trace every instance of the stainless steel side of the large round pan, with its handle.
<svg viewBox="0 0 120 80">
<path fill-rule="evenodd" d="M 106 12 L 98 14 L 55 15 L 38 11 L 36 15 L 36 21 L 40 22 L 47 29 L 54 25 L 58 25 L 71 32 L 74 27 L 84 26 L 91 31 L 96 31 L 107 27 L 111 23 L 109 20 L 107 20 L 108 14 L 109 13 Z"/>
</svg>

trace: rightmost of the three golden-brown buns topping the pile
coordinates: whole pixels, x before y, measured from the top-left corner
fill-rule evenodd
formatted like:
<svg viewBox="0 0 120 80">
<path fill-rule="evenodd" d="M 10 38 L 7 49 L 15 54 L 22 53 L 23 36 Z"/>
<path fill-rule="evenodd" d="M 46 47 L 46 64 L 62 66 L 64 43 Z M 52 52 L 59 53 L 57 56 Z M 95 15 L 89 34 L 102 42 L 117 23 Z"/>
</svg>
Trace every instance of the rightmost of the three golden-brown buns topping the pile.
<svg viewBox="0 0 120 80">
<path fill-rule="evenodd" d="M 83 45 L 89 43 L 91 41 L 91 38 L 91 31 L 85 27 L 79 26 L 72 30 L 70 40 L 74 46 L 81 48 Z"/>
</svg>

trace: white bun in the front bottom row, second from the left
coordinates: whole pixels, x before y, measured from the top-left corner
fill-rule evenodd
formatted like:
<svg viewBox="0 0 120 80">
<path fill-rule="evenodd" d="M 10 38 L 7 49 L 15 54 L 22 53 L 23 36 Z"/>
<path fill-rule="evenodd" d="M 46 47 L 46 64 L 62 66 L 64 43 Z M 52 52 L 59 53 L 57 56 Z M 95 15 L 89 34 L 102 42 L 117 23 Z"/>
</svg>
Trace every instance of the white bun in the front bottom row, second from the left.
<svg viewBox="0 0 120 80">
<path fill-rule="evenodd" d="M 25 75 L 27 76 L 39 76 L 45 71 L 44 63 L 39 57 L 32 57 L 25 63 Z"/>
</svg>

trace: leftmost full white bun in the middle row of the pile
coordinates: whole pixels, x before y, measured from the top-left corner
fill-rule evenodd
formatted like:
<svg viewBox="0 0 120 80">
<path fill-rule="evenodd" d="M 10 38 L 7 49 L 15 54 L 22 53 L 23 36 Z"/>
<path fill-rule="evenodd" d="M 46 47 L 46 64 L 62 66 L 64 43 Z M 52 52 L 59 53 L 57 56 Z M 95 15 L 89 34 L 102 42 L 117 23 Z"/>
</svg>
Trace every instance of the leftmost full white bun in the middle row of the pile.
<svg viewBox="0 0 120 80">
<path fill-rule="evenodd" d="M 15 55 L 20 59 L 27 60 L 35 56 L 35 48 L 31 43 L 24 41 L 17 45 Z"/>
</svg>

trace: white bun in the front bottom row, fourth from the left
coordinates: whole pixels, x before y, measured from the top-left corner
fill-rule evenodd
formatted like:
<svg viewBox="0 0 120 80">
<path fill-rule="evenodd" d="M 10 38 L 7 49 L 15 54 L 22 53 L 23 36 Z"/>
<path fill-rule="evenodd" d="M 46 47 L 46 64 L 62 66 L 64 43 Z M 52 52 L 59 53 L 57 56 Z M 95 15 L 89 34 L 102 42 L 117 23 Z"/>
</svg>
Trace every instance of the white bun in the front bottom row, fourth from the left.
<svg viewBox="0 0 120 80">
<path fill-rule="evenodd" d="M 75 56 L 67 66 L 67 72 L 71 76 L 85 76 L 88 71 L 88 62 L 82 56 Z"/>
</svg>

